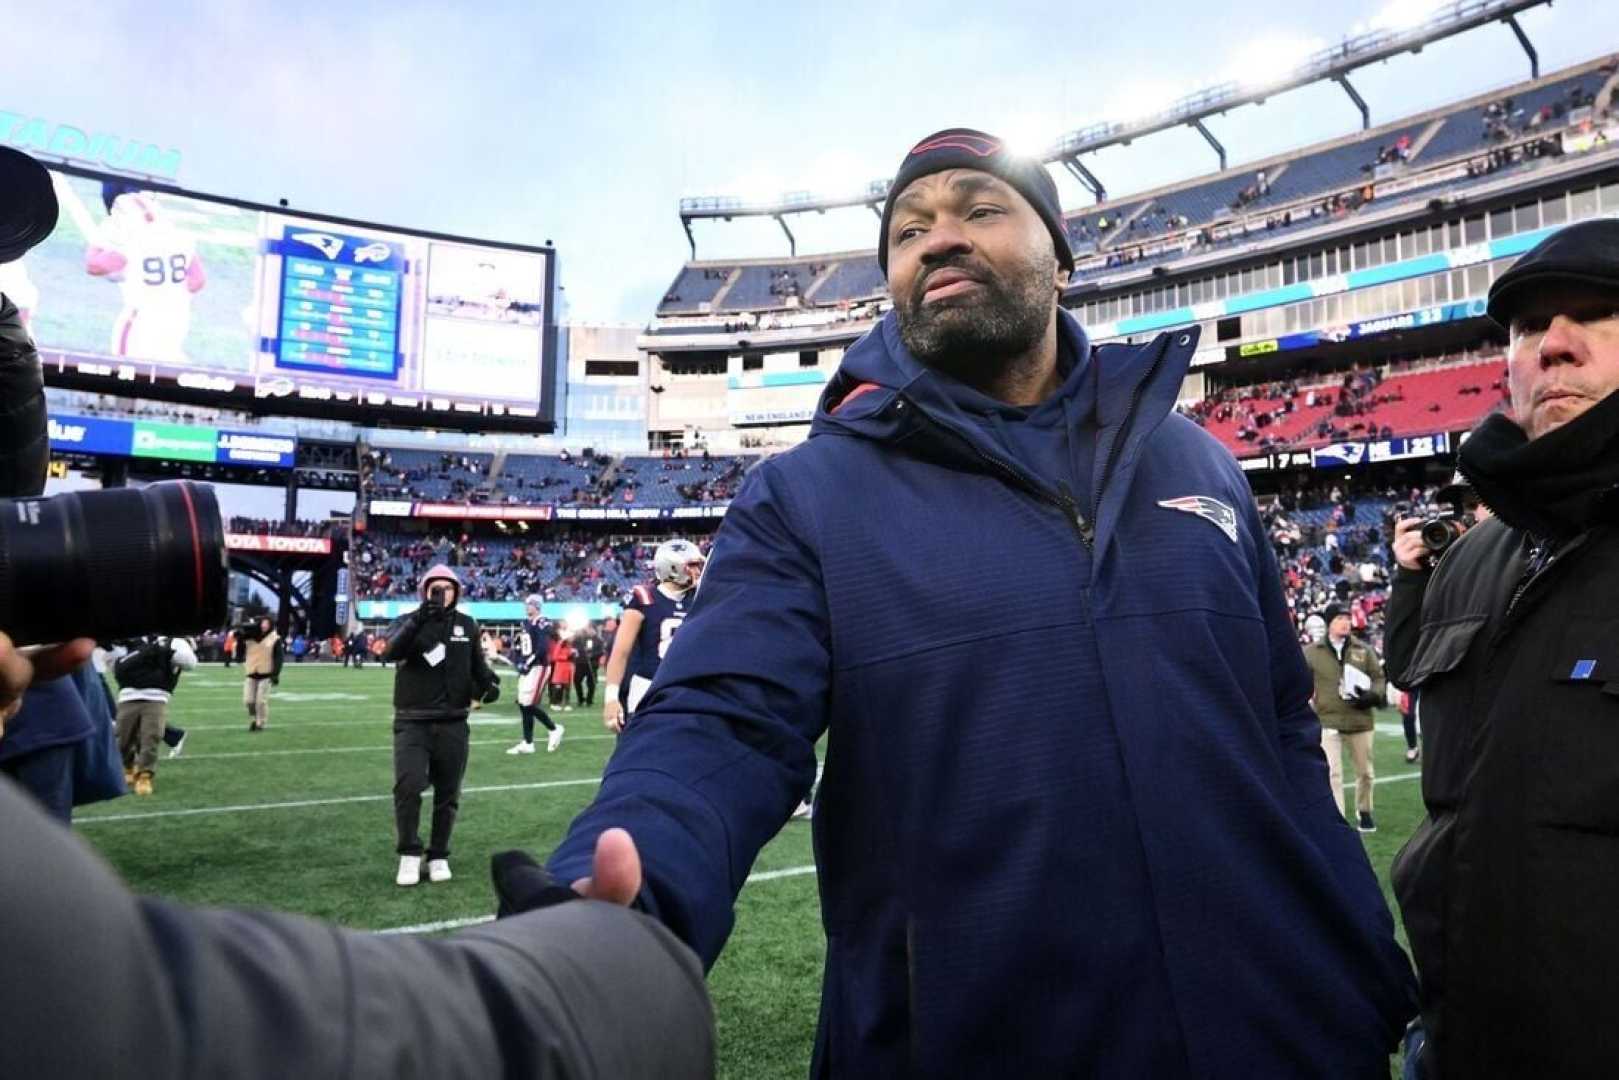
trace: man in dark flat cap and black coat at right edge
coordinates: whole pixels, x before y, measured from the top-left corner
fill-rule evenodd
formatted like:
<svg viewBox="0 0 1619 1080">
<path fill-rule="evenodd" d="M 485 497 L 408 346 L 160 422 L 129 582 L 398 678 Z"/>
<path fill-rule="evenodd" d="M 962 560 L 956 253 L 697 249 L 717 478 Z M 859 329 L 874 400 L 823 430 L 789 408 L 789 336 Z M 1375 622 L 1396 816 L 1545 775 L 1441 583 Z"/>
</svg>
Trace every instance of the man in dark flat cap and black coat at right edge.
<svg viewBox="0 0 1619 1080">
<path fill-rule="evenodd" d="M 1509 413 L 1462 444 L 1494 518 L 1428 568 L 1402 521 L 1389 674 L 1418 693 L 1428 816 L 1394 863 L 1423 975 L 1421 1077 L 1619 1061 L 1619 222 L 1569 225 L 1489 290 Z M 1488 738 L 1480 738 L 1488 733 Z"/>
</svg>

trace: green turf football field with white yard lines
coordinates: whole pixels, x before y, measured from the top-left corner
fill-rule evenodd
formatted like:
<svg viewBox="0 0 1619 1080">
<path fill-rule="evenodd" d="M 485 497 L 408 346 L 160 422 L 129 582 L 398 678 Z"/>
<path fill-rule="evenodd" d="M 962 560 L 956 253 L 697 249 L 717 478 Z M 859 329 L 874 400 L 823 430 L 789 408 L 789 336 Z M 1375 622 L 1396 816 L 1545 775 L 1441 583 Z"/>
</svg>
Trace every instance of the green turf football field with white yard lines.
<svg viewBox="0 0 1619 1080">
<path fill-rule="evenodd" d="M 160 751 L 155 795 L 76 814 L 79 834 L 136 891 L 440 933 L 494 912 L 491 853 L 523 847 L 542 858 L 555 847 L 612 751 L 597 703 L 554 714 L 568 729 L 557 753 L 541 745 L 533 756 L 507 756 L 520 730 L 508 677 L 502 701 L 473 714 L 455 879 L 402 889 L 393 884 L 392 670 L 288 664 L 270 727 L 257 735 L 248 733 L 238 672 L 204 665 L 181 680 L 170 721 L 189 738 L 178 759 Z M 1389 863 L 1420 818 L 1420 798 L 1397 714 L 1381 712 L 1379 729 L 1379 832 L 1365 842 L 1387 892 Z M 429 793 L 424 839 L 431 801 Z M 810 823 L 792 821 L 742 891 L 737 929 L 709 978 L 720 1077 L 808 1075 L 824 949 L 813 863 Z"/>
</svg>

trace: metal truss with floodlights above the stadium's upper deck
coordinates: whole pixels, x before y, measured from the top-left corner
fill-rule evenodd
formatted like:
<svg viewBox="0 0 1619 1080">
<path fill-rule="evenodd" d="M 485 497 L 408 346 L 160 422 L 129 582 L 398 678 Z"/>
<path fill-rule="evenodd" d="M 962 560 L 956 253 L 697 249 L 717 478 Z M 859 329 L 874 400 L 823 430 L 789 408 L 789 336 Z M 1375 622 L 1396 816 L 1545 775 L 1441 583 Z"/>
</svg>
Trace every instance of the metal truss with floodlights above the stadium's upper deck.
<svg viewBox="0 0 1619 1080">
<path fill-rule="evenodd" d="M 1107 201 L 1107 189 L 1101 180 L 1080 160 L 1085 154 L 1106 149 L 1109 146 L 1128 146 L 1135 139 L 1169 131 L 1172 128 L 1195 128 L 1219 155 L 1221 172 L 1226 170 L 1226 147 L 1203 123 L 1209 117 L 1217 117 L 1243 105 L 1261 105 L 1269 97 L 1295 91 L 1313 83 L 1337 83 L 1349 99 L 1360 110 L 1362 130 L 1371 128 L 1371 107 L 1360 96 L 1349 76 L 1368 65 L 1391 60 L 1400 53 L 1418 53 L 1433 42 L 1455 34 L 1488 26 L 1491 23 L 1506 24 L 1523 53 L 1528 57 L 1530 78 L 1540 78 L 1540 53 L 1530 42 L 1517 16 L 1528 8 L 1549 6 L 1553 0 L 1451 0 L 1413 26 L 1381 28 L 1363 34 L 1344 37 L 1339 44 L 1321 49 L 1307 57 L 1302 63 L 1285 68 L 1274 79 L 1219 83 L 1195 91 L 1171 102 L 1161 112 L 1125 121 L 1098 121 L 1060 136 L 1041 154 L 1046 164 L 1060 164 L 1078 183 L 1090 191 L 1098 202 Z M 798 240 L 787 227 L 787 217 L 793 214 L 847 209 L 866 206 L 877 215 L 889 194 L 889 180 L 873 180 L 852 191 L 813 193 L 788 191 L 779 199 L 743 199 L 737 196 L 698 196 L 680 199 L 680 225 L 686 230 L 686 241 L 691 244 L 691 257 L 698 257 L 696 235 L 691 232 L 695 220 L 732 220 L 735 217 L 771 217 L 787 235 L 787 244 L 793 256 L 798 254 Z"/>
</svg>

